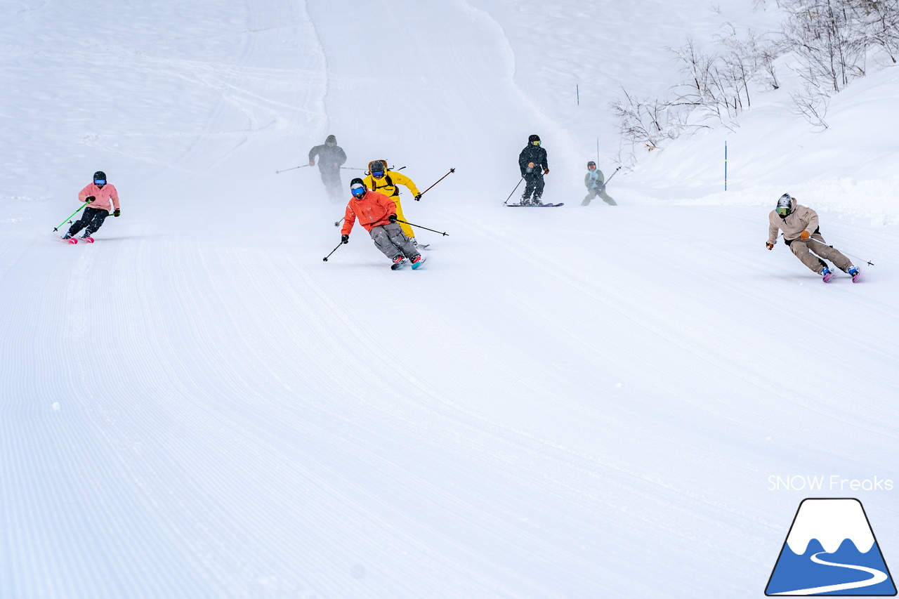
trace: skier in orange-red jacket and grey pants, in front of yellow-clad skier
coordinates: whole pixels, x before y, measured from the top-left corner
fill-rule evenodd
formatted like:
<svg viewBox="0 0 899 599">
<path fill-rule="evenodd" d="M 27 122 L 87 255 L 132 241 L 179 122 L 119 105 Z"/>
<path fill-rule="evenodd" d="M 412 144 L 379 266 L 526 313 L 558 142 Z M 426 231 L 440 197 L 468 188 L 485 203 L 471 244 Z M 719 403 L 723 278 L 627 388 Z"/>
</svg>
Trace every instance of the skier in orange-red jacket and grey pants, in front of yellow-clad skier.
<svg viewBox="0 0 899 599">
<path fill-rule="evenodd" d="M 390 268 L 396 271 L 407 262 L 412 262 L 414 269 L 421 266 L 424 256 L 396 223 L 396 203 L 383 193 L 369 191 L 358 177 L 350 182 L 350 192 L 352 200 L 346 205 L 340 240 L 350 243 L 350 231 L 359 218 L 375 246 L 393 262 Z"/>
</svg>

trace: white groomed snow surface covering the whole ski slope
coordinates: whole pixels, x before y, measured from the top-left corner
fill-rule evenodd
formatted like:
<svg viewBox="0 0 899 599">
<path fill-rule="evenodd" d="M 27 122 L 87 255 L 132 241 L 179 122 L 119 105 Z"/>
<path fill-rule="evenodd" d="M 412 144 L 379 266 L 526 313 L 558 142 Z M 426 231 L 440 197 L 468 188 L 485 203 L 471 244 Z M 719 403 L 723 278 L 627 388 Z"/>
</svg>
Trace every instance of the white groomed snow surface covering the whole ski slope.
<svg viewBox="0 0 899 599">
<path fill-rule="evenodd" d="M 771 475 L 899 478 L 899 71 L 580 206 L 619 86 L 749 4 L 4 2 L 0 597 L 760 596 L 806 496 Z M 358 227 L 322 261 L 343 204 L 275 171 L 331 133 L 457 169 L 404 192 L 419 271 Z M 502 206 L 530 133 L 562 208 Z M 122 215 L 64 245 L 98 169 Z M 764 250 L 785 191 L 863 283 Z"/>
</svg>

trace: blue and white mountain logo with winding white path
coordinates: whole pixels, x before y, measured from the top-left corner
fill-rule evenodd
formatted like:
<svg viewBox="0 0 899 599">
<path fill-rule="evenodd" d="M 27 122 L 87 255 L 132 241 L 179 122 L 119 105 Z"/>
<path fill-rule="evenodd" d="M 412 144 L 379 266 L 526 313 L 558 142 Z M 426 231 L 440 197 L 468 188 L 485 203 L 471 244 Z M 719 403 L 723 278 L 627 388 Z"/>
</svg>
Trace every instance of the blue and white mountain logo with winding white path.
<svg viewBox="0 0 899 599">
<path fill-rule="evenodd" d="M 896 587 L 858 499 L 804 499 L 765 595 L 892 597 Z"/>
</svg>

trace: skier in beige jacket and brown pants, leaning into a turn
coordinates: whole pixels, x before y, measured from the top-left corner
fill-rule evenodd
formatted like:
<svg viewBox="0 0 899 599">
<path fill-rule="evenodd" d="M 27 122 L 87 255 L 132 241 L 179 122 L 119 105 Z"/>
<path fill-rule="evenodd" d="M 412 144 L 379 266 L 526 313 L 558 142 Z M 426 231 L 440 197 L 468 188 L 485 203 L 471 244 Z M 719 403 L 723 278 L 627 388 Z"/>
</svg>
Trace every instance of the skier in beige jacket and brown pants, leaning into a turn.
<svg viewBox="0 0 899 599">
<path fill-rule="evenodd" d="M 768 215 L 768 223 L 768 242 L 765 244 L 768 249 L 777 243 L 778 229 L 783 229 L 784 243 L 790 251 L 802 261 L 802 264 L 820 274 L 823 282 L 830 282 L 833 273 L 821 258 L 830 260 L 841 271 L 849 273 L 852 282 L 859 281 L 861 271 L 852 265 L 849 258 L 824 242 L 818 227 L 817 212 L 797 204 L 796 198 L 790 197 L 789 193 L 780 196 L 777 208 L 771 210 Z"/>
</svg>

